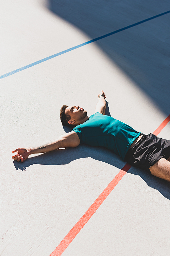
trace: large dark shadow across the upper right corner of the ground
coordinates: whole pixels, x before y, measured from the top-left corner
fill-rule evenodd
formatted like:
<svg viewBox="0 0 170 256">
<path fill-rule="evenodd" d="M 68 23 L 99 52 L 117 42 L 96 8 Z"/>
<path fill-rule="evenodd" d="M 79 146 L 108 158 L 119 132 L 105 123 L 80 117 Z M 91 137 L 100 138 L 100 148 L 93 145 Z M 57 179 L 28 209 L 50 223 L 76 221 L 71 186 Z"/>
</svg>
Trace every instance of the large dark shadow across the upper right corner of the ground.
<svg viewBox="0 0 170 256">
<path fill-rule="evenodd" d="M 47 0 L 47 7 L 94 39 L 169 11 L 170 1 Z M 167 116 L 170 113 L 169 24 L 170 14 L 166 14 L 96 41 Z"/>
</svg>

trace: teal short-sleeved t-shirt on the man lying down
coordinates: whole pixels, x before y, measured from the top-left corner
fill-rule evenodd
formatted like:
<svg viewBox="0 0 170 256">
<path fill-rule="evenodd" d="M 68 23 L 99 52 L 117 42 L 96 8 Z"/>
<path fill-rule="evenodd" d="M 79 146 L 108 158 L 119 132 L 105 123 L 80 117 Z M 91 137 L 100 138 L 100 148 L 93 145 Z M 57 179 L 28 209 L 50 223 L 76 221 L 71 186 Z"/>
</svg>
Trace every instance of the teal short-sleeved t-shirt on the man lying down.
<svg viewBox="0 0 170 256">
<path fill-rule="evenodd" d="M 141 134 L 113 117 L 95 113 L 74 129 L 81 144 L 101 146 L 118 154 L 122 160 L 133 141 Z"/>
</svg>

